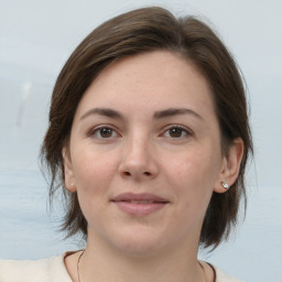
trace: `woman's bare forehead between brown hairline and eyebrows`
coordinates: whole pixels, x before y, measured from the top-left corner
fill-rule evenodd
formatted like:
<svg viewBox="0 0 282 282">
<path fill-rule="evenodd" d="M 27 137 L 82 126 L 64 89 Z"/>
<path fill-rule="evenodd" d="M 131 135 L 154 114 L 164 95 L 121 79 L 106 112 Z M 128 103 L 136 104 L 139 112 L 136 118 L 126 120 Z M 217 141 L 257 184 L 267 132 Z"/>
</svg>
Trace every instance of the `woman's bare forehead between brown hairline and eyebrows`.
<svg viewBox="0 0 282 282">
<path fill-rule="evenodd" d="M 90 84 L 78 105 L 78 115 L 90 107 L 133 107 L 158 110 L 169 107 L 209 108 L 208 83 L 196 67 L 178 54 L 165 51 L 119 59 Z"/>
</svg>

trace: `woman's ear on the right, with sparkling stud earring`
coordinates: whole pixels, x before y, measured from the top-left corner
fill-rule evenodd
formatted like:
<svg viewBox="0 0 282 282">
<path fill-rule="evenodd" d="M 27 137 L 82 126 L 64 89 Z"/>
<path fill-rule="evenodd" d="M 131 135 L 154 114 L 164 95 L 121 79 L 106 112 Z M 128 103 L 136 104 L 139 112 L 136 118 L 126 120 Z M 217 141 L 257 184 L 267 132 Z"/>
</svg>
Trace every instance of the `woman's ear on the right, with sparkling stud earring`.
<svg viewBox="0 0 282 282">
<path fill-rule="evenodd" d="M 218 180 L 215 183 L 214 192 L 225 193 L 237 180 L 243 154 L 243 141 L 235 139 L 229 147 L 227 154 L 223 158 L 223 166 Z M 224 187 L 227 184 L 227 187 Z"/>
</svg>

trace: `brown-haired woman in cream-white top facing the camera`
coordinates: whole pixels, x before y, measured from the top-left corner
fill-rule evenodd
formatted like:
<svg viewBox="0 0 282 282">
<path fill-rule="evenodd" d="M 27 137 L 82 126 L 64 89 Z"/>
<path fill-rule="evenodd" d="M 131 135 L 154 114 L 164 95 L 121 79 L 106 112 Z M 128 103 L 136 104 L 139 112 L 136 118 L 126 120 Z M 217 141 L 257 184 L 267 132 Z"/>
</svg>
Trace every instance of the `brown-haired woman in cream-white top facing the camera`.
<svg viewBox="0 0 282 282">
<path fill-rule="evenodd" d="M 42 148 L 86 248 L 4 261 L 1 281 L 239 281 L 197 251 L 235 228 L 251 151 L 240 74 L 207 25 L 162 8 L 109 20 L 61 72 Z"/>
</svg>

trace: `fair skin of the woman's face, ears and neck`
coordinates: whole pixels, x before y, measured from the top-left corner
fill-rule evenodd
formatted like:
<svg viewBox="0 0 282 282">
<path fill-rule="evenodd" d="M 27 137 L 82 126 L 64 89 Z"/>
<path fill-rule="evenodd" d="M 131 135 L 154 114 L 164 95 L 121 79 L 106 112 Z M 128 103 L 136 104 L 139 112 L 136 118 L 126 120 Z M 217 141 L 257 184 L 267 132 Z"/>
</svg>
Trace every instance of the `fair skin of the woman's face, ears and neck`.
<svg viewBox="0 0 282 282">
<path fill-rule="evenodd" d="M 180 55 L 158 51 L 106 68 L 63 150 L 65 185 L 88 223 L 82 282 L 205 281 L 205 212 L 213 192 L 225 192 L 220 181 L 236 181 L 241 155 L 240 140 L 221 154 L 208 84 Z M 65 260 L 73 281 L 78 256 Z"/>
</svg>

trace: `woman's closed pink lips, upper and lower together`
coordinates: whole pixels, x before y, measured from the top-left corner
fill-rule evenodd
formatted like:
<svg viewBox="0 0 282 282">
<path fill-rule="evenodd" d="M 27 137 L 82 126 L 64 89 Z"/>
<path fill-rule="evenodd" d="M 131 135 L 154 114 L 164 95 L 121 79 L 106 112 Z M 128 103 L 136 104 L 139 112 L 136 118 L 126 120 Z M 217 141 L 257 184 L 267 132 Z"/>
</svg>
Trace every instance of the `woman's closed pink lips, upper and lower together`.
<svg viewBox="0 0 282 282">
<path fill-rule="evenodd" d="M 150 193 L 123 193 L 112 198 L 111 202 L 120 210 L 132 216 L 153 214 L 170 203 L 167 199 Z"/>
</svg>

